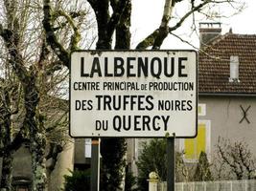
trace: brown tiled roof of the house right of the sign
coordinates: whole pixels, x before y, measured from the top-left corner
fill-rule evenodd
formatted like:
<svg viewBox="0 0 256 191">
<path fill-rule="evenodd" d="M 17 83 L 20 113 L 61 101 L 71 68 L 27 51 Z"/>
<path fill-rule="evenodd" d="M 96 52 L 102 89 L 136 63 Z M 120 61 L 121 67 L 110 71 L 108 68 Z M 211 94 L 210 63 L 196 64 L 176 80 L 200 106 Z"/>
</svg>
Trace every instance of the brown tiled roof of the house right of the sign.
<svg viewBox="0 0 256 191">
<path fill-rule="evenodd" d="M 229 82 L 229 60 L 239 56 L 239 80 Z M 256 95 L 256 35 L 220 35 L 198 55 L 199 94 Z"/>
</svg>

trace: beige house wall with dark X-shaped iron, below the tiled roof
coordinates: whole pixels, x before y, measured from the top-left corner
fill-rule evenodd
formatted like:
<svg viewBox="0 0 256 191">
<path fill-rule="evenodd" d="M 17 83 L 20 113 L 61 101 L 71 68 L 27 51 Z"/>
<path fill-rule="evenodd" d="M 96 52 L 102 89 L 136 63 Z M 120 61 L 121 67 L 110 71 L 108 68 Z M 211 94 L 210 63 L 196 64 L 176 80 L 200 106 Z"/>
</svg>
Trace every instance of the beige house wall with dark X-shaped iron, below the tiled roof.
<svg viewBox="0 0 256 191">
<path fill-rule="evenodd" d="M 199 104 L 205 104 L 206 115 L 198 119 L 209 120 L 211 128 L 211 153 L 219 136 L 230 140 L 244 140 L 256 156 L 256 96 L 199 96 Z M 247 118 L 244 119 L 243 111 L 248 106 Z"/>
</svg>

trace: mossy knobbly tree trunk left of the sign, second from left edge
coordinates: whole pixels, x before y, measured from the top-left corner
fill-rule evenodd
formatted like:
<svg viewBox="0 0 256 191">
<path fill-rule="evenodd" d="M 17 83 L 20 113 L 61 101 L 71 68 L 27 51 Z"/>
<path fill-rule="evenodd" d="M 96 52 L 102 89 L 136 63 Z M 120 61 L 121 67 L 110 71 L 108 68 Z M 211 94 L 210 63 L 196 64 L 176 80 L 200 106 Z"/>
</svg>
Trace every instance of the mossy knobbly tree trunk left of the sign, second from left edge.
<svg viewBox="0 0 256 191">
<path fill-rule="evenodd" d="M 33 190 L 46 190 L 45 149 L 46 137 L 43 117 L 39 114 L 37 105 L 39 93 L 35 86 L 35 75 L 31 75 L 28 83 L 24 85 L 26 117 L 25 124 L 30 129 L 30 142 L 32 153 Z"/>
</svg>

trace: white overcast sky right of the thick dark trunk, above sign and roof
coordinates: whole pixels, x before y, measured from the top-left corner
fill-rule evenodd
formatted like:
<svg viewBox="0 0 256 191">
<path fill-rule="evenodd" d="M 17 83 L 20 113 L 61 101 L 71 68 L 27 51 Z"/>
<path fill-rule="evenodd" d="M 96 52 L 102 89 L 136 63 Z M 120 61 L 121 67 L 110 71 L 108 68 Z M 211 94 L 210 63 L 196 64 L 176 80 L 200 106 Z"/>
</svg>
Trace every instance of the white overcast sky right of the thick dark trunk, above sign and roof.
<svg viewBox="0 0 256 191">
<path fill-rule="evenodd" d="M 238 15 L 229 18 L 221 18 L 218 21 L 222 23 L 222 33 L 226 33 L 232 28 L 234 33 L 256 34 L 256 25 L 254 19 L 256 18 L 256 1 L 245 0 L 246 8 Z M 153 32 L 161 21 L 162 10 L 164 7 L 164 0 L 132 0 L 132 17 L 131 17 L 131 32 L 132 32 L 132 48 L 134 48 L 141 39 Z M 185 6 L 179 3 L 178 12 L 185 10 Z M 230 15 L 230 10 L 223 8 L 218 9 L 226 15 Z M 180 28 L 176 34 L 184 36 L 188 41 L 191 41 L 198 47 L 198 37 L 195 33 L 189 36 L 191 30 L 189 24 L 192 18 L 185 23 L 185 27 Z M 201 20 L 205 22 L 207 20 Z M 172 26 L 172 23 L 170 24 Z M 192 47 L 183 44 L 180 40 L 175 39 L 174 36 L 169 35 L 168 39 L 164 41 L 161 49 L 191 49 Z"/>
</svg>

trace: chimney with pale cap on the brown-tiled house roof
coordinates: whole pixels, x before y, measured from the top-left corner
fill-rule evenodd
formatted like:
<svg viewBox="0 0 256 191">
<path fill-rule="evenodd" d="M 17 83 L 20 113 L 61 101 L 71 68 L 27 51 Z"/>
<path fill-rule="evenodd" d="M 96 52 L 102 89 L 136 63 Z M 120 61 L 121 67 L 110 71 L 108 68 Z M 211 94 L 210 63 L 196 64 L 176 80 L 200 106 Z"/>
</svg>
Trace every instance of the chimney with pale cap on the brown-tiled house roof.
<svg viewBox="0 0 256 191">
<path fill-rule="evenodd" d="M 209 44 L 217 36 L 221 35 L 220 22 L 202 22 L 199 23 L 200 48 Z"/>
</svg>

